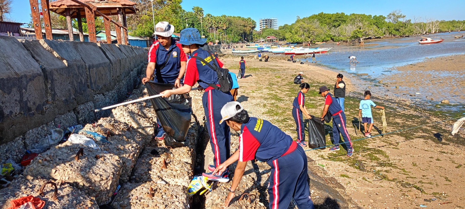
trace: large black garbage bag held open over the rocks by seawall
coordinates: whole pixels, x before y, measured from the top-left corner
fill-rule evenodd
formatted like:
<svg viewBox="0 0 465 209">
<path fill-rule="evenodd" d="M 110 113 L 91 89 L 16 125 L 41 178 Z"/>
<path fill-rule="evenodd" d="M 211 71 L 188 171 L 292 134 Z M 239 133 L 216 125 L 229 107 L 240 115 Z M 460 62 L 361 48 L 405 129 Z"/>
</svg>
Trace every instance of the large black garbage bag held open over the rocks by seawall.
<svg viewBox="0 0 465 209">
<path fill-rule="evenodd" d="M 146 83 L 150 96 L 160 94 L 174 85 L 165 83 Z M 192 98 L 188 94 L 173 94 L 169 98 L 157 97 L 150 99 L 157 114 L 157 120 L 166 132 L 165 145 L 168 147 L 182 147 L 186 141 L 187 131 L 191 122 Z"/>
</svg>

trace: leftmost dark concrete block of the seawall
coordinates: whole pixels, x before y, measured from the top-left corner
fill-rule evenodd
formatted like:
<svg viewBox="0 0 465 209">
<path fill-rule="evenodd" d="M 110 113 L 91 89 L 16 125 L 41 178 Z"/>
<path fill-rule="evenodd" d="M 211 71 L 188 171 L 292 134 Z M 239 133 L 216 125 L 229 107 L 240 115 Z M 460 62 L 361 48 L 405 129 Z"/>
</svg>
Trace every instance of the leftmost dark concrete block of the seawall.
<svg viewBox="0 0 465 209">
<path fill-rule="evenodd" d="M 0 144 L 53 120 L 39 64 L 13 37 L 0 36 Z"/>
</svg>

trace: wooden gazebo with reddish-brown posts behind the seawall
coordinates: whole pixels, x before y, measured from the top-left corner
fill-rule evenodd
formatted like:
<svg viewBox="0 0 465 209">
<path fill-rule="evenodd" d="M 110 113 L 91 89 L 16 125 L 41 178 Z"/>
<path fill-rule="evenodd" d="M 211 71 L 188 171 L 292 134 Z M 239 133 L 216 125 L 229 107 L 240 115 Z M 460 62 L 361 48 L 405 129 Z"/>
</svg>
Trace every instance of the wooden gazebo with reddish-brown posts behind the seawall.
<svg viewBox="0 0 465 209">
<path fill-rule="evenodd" d="M 38 11 L 38 0 L 29 0 L 31 4 L 31 11 L 34 22 L 34 29 L 36 34 L 38 29 L 41 33 L 39 12 Z M 86 17 L 87 28 L 89 30 L 89 41 L 96 42 L 95 34 L 95 22 L 94 19 L 97 16 L 103 17 L 105 31 L 110 33 L 110 23 L 115 24 L 117 40 L 119 44 L 127 44 L 127 24 L 126 14 L 136 13 L 136 3 L 130 0 L 57 0 L 49 3 L 49 0 L 40 0 L 42 5 L 42 13 L 44 16 L 44 26 L 46 31 L 46 39 L 51 39 L 51 25 L 49 12 L 58 13 L 66 17 L 66 23 L 68 25 L 68 32 L 70 34 L 70 40 L 73 40 L 73 26 L 71 25 L 71 19 L 76 18 L 78 22 L 80 41 L 84 41 L 84 35 L 82 32 L 81 17 Z M 111 15 L 118 15 L 118 20 L 112 20 Z M 50 31 L 50 35 L 47 32 Z M 37 36 L 37 35 L 36 35 Z M 39 37 L 39 36 L 37 36 Z M 40 35 L 40 37 L 42 37 Z M 111 43 L 111 35 L 106 35 L 107 43 Z"/>
</svg>

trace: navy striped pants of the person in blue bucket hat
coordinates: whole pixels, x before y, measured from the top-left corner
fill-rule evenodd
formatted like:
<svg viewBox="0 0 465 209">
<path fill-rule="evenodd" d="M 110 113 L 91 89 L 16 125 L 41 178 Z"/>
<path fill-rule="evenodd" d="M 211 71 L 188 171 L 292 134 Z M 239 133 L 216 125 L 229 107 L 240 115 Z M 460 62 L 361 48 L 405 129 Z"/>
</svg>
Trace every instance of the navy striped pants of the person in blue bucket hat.
<svg viewBox="0 0 465 209">
<path fill-rule="evenodd" d="M 226 125 L 226 122 L 219 124 L 222 118 L 221 108 L 230 101 L 233 101 L 231 93 L 223 93 L 216 89 L 206 91 L 202 96 L 206 127 L 210 135 L 210 145 L 213 150 L 215 167 L 225 162 L 230 156 L 231 137 L 229 135 L 229 127 Z"/>
</svg>

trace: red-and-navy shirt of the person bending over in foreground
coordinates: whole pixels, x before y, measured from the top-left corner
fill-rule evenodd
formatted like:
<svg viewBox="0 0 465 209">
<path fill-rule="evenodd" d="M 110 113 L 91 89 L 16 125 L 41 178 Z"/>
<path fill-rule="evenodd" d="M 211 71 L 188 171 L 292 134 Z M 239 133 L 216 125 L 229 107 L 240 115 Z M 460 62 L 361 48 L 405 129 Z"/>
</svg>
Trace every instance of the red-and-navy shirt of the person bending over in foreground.
<svg viewBox="0 0 465 209">
<path fill-rule="evenodd" d="M 291 136 L 263 119 L 251 117 L 247 123 L 242 123 L 240 130 L 240 162 L 253 159 L 271 162 L 285 154 L 292 144 Z"/>
</svg>

